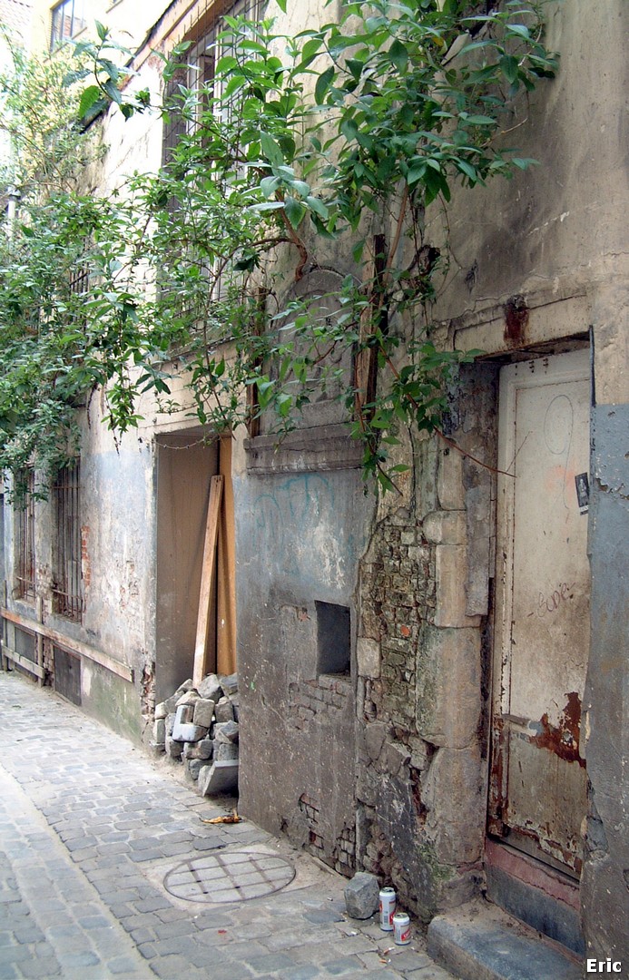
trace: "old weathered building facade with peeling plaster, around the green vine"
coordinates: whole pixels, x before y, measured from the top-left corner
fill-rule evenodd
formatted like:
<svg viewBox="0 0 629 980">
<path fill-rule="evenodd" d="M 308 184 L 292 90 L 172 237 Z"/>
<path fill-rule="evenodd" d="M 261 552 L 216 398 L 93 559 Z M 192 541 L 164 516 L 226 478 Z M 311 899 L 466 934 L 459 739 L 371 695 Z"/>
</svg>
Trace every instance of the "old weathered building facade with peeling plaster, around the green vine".
<svg viewBox="0 0 629 980">
<path fill-rule="evenodd" d="M 224 13 L 177 0 L 138 28 L 142 83 L 160 87 L 153 48 Z M 285 15 L 295 33 L 317 17 Z M 208 441 L 148 396 L 117 445 L 92 399 L 69 478 L 5 507 L 3 643 L 148 742 L 156 699 L 192 673 L 222 475 L 208 663 L 240 677 L 242 812 L 375 872 L 424 922 L 487 892 L 629 963 L 629 12 L 545 17 L 559 73 L 504 136 L 541 166 L 454 196 L 432 317 L 442 345 L 482 354 L 443 433 L 404 441 L 399 492 L 364 493 L 331 401 L 277 449 L 264 424 Z M 103 185 L 159 169 L 159 120 L 112 115 L 104 139 Z M 436 207 L 427 226 L 441 245 Z M 353 271 L 339 249 L 278 288 L 330 295 Z"/>
</svg>

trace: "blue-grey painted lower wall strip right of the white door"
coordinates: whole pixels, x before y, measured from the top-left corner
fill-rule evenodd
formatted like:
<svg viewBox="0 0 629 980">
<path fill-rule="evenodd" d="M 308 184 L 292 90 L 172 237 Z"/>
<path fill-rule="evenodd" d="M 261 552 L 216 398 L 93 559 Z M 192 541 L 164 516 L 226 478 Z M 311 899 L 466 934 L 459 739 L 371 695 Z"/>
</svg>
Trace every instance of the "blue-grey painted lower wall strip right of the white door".
<svg viewBox="0 0 629 980">
<path fill-rule="evenodd" d="M 582 907 L 588 956 L 629 956 L 629 407 L 593 417 L 592 645 L 585 696 L 592 784 Z"/>
</svg>

